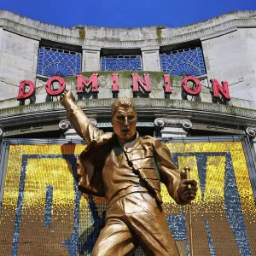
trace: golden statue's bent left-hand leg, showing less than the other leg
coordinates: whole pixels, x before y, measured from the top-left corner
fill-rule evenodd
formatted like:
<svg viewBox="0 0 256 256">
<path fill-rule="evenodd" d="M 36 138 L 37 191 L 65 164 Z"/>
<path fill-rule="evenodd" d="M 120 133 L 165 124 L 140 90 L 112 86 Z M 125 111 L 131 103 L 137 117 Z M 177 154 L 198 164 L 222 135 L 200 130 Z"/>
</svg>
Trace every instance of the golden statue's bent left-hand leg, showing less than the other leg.
<svg viewBox="0 0 256 256">
<path fill-rule="evenodd" d="M 126 224 L 118 218 L 108 218 L 93 248 L 92 256 L 133 255 L 135 246 Z"/>
</svg>

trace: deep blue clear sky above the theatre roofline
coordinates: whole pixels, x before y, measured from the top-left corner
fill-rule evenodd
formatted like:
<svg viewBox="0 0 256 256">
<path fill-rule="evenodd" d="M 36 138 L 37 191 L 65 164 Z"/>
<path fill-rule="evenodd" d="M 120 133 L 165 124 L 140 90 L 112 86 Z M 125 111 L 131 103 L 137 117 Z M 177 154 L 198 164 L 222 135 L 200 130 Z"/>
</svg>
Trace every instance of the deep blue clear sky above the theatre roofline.
<svg viewBox="0 0 256 256">
<path fill-rule="evenodd" d="M 0 9 L 57 26 L 176 27 L 255 10 L 256 0 L 0 0 Z"/>
</svg>

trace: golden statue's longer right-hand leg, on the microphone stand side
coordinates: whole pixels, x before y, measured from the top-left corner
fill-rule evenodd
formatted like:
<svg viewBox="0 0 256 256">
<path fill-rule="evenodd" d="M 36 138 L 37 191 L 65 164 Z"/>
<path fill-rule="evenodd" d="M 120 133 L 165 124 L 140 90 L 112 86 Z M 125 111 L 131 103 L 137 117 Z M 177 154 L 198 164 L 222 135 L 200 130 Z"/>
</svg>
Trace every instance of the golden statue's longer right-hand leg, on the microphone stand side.
<svg viewBox="0 0 256 256">
<path fill-rule="evenodd" d="M 125 196 L 125 223 L 146 255 L 179 256 L 166 214 L 148 193 Z"/>
</svg>

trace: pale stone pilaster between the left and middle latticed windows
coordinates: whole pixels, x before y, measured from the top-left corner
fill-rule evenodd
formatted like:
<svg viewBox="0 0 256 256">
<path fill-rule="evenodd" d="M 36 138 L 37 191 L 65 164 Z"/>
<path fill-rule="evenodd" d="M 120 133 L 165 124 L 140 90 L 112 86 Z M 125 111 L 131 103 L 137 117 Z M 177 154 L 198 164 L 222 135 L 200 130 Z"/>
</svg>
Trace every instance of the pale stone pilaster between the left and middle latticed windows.
<svg viewBox="0 0 256 256">
<path fill-rule="evenodd" d="M 97 72 L 101 70 L 101 48 L 93 46 L 83 47 L 82 72 Z"/>
</svg>

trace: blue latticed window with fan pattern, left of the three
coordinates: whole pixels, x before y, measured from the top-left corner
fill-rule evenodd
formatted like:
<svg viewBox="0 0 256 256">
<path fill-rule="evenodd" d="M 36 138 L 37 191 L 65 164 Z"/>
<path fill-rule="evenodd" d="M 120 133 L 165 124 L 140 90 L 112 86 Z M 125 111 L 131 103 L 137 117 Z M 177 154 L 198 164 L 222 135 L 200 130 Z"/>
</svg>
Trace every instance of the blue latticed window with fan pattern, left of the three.
<svg viewBox="0 0 256 256">
<path fill-rule="evenodd" d="M 40 47 L 38 74 L 53 77 L 74 76 L 81 72 L 81 53 L 65 49 Z"/>
</svg>

